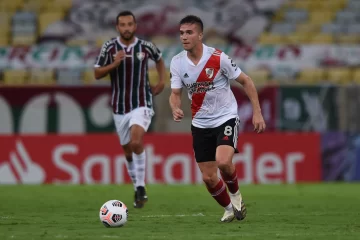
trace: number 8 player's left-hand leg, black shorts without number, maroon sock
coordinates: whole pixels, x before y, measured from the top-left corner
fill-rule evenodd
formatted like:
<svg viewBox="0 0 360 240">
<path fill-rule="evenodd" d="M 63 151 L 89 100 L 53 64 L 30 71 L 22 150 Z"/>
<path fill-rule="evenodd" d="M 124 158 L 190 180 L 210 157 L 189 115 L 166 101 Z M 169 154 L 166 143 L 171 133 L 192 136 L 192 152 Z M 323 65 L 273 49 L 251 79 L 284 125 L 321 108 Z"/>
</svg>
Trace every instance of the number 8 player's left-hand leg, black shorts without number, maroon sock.
<svg viewBox="0 0 360 240">
<path fill-rule="evenodd" d="M 209 129 L 200 129 L 192 126 L 193 148 L 195 159 L 202 173 L 202 179 L 211 196 L 230 213 L 221 218 L 222 222 L 231 222 L 234 219 L 233 206 L 225 183 L 217 175 L 216 136 Z"/>
</svg>

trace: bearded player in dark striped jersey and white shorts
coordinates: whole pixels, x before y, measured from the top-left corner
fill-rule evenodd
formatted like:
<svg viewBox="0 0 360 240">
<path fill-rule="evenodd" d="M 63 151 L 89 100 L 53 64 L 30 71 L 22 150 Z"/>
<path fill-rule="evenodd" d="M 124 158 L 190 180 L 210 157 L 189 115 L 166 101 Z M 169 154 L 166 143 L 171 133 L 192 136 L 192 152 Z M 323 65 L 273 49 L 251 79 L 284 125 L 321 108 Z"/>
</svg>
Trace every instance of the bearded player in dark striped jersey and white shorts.
<svg viewBox="0 0 360 240">
<path fill-rule="evenodd" d="M 154 115 L 152 96 L 164 89 L 165 65 L 153 43 L 134 35 L 136 19 L 132 12 L 117 15 L 116 29 L 120 36 L 104 43 L 94 72 L 96 79 L 110 74 L 113 118 L 134 184 L 134 207 L 142 208 L 148 200 L 143 137 Z M 148 59 L 156 62 L 159 81 L 154 87 L 149 84 Z"/>
</svg>

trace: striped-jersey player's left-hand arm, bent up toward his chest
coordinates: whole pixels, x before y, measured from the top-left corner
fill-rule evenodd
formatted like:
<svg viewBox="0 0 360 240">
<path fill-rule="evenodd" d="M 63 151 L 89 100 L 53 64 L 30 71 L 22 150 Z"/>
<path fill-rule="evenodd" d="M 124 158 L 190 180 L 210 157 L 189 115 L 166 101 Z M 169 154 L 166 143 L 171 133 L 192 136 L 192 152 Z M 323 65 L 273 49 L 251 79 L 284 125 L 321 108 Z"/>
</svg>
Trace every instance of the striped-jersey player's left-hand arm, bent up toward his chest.
<svg viewBox="0 0 360 240">
<path fill-rule="evenodd" d="M 113 56 L 110 56 L 109 49 L 109 44 L 106 43 L 101 48 L 100 54 L 97 57 L 94 66 L 95 79 L 101 79 L 105 77 L 113 69 L 117 68 L 121 61 L 125 59 L 124 51 L 119 51 L 114 57 L 114 60 L 111 61 L 110 58 Z"/>
</svg>

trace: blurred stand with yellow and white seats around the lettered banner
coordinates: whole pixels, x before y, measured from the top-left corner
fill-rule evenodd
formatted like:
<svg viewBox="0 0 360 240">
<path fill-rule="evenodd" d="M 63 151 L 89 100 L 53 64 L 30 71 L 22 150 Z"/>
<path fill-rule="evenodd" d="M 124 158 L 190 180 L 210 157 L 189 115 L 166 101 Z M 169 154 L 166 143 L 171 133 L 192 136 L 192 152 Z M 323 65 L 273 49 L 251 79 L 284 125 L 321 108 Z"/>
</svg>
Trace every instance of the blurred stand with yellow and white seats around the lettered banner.
<svg viewBox="0 0 360 240">
<path fill-rule="evenodd" d="M 121 1 L 120 1 L 121 2 Z M 205 39 L 210 45 L 334 45 L 358 46 L 360 44 L 359 0 L 274 0 L 268 3 L 249 4 L 243 0 L 219 1 L 141 1 L 118 3 L 104 0 L 0 0 L 0 47 L 34 47 L 39 44 L 62 44 L 69 47 L 99 48 L 105 40 L 116 36 L 114 16 L 118 9 L 127 7 L 139 16 L 145 27 L 138 35 L 161 47 L 174 47 L 178 43 L 177 20 L 187 13 L 201 16 L 206 22 Z M 146 5 L 147 4 L 147 5 Z M 99 15 L 94 9 L 108 14 Z M 220 10 L 220 11 L 219 11 Z M 226 14 L 224 14 L 226 12 Z M 259 20 L 261 18 L 261 20 Z M 166 19 L 166 21 L 164 20 Z M 228 24 L 231 22 L 232 24 Z M 252 24 L 250 32 L 247 24 Z M 219 27 L 220 26 L 220 27 Z M 93 31 L 97 29 L 97 31 Z M 246 31 L 244 30 L 246 29 Z M 244 31 L 246 32 L 244 34 Z M 260 34 L 259 34 L 260 33 Z M 254 41 L 257 39 L 257 42 Z M 1 61 L 0 61 L 1 62 Z M 19 84 L 95 84 L 90 64 L 76 68 L 64 66 L 19 67 L 16 61 L 0 65 L 0 83 Z M 240 64 L 241 65 L 241 64 Z M 351 68 L 349 68 L 351 67 Z M 246 67 L 259 85 L 284 82 L 320 84 L 330 82 L 347 84 L 358 82 L 359 70 L 355 66 L 306 66 L 296 73 L 278 74 L 262 67 Z M 19 70 L 15 70 L 19 69 Z M 42 70 L 39 70 L 42 69 Z M 150 71 L 151 82 L 156 73 Z M 45 78 L 48 78 L 45 80 Z M 71 78 L 69 80 L 69 78 Z M 344 80 L 343 78 L 346 78 Z M 106 80 L 105 80 L 106 82 Z M 167 82 L 169 84 L 169 82 Z"/>
</svg>

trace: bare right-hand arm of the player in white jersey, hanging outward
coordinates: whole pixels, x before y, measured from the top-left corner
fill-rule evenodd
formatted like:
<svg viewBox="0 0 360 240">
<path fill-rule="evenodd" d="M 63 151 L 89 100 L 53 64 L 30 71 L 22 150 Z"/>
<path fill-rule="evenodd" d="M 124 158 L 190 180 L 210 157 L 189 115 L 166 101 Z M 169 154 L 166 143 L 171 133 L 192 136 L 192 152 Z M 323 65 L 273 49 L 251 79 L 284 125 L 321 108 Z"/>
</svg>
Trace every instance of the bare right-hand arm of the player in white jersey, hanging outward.
<svg viewBox="0 0 360 240">
<path fill-rule="evenodd" d="M 246 95 L 250 99 L 253 108 L 254 130 L 258 133 L 263 132 L 266 128 L 266 125 L 261 114 L 259 97 L 253 80 L 243 72 L 241 72 L 235 80 L 243 86 Z"/>
</svg>

